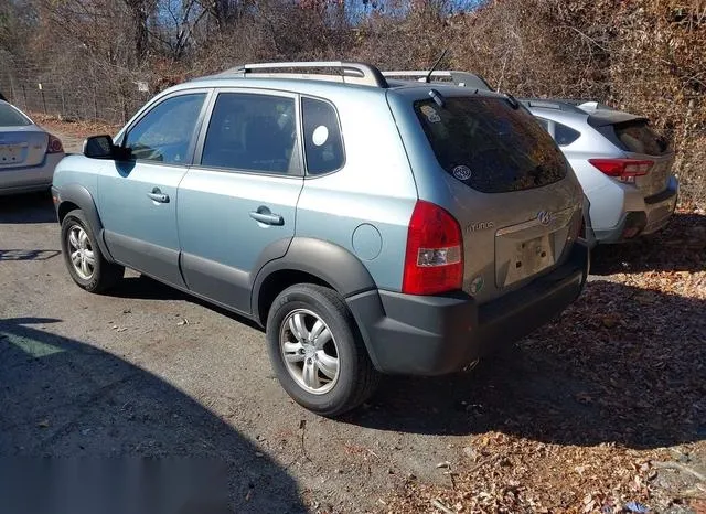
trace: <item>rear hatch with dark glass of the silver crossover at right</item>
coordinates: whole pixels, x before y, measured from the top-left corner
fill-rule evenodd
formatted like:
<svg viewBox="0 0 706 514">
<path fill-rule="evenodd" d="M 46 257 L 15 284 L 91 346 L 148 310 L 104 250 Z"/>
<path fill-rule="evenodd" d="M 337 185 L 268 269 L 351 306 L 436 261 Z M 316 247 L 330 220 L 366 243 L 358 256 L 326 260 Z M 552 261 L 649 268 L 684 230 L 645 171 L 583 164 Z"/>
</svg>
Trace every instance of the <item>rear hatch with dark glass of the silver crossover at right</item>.
<svg viewBox="0 0 706 514">
<path fill-rule="evenodd" d="M 634 183 L 642 194 L 653 196 L 667 188 L 674 163 L 674 151 L 665 138 L 655 132 L 646 118 L 628 113 L 599 110 L 588 124 L 625 153 L 628 159 L 651 162 L 646 174 Z"/>
</svg>

